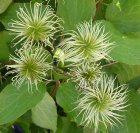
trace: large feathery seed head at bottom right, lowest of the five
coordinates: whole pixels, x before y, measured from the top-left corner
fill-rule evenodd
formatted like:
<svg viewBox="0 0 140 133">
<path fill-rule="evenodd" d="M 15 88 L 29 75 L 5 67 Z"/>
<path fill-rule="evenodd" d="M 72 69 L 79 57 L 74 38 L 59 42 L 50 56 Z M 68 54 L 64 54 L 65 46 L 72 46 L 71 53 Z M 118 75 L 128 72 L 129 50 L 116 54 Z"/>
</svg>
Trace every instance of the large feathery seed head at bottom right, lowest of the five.
<svg viewBox="0 0 140 133">
<path fill-rule="evenodd" d="M 95 126 L 97 131 L 100 123 L 116 125 L 123 116 L 120 112 L 127 107 L 127 86 L 114 85 L 115 79 L 103 75 L 92 88 L 82 92 L 77 103 L 83 114 L 82 125 L 87 127 Z"/>
</svg>

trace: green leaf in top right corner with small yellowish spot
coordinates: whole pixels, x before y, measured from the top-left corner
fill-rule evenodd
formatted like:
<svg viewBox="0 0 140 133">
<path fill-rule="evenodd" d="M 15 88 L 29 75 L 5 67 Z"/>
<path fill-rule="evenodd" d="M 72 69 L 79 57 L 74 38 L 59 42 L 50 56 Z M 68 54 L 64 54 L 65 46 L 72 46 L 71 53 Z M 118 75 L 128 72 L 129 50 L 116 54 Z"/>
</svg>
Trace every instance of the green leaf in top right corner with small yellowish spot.
<svg viewBox="0 0 140 133">
<path fill-rule="evenodd" d="M 120 31 L 140 31 L 140 0 L 114 0 L 107 8 L 106 19 Z"/>
</svg>

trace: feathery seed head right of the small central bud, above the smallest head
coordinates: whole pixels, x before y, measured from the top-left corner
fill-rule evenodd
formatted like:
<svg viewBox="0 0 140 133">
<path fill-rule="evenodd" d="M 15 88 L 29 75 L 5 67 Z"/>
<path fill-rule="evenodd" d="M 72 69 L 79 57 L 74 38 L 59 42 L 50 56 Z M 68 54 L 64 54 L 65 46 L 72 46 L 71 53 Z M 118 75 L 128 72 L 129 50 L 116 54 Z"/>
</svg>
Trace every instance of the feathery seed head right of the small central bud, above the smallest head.
<svg viewBox="0 0 140 133">
<path fill-rule="evenodd" d="M 109 42 L 109 35 L 105 33 L 101 23 L 92 24 L 84 22 L 77 26 L 77 31 L 70 33 L 71 40 L 67 44 L 61 44 L 62 49 L 67 49 L 78 59 L 84 62 L 96 62 L 101 59 L 110 59 L 108 53 L 114 43 Z"/>
</svg>

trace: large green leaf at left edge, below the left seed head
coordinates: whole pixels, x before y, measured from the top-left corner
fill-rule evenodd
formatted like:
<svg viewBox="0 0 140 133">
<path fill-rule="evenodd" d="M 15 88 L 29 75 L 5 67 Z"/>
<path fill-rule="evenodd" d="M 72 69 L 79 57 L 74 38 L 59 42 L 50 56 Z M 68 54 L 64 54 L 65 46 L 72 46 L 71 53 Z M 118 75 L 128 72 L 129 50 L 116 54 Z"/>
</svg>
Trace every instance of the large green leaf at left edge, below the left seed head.
<svg viewBox="0 0 140 133">
<path fill-rule="evenodd" d="M 34 107 L 44 96 L 45 84 L 39 84 L 39 91 L 28 92 L 28 86 L 22 85 L 19 90 L 12 84 L 7 85 L 0 93 L 0 125 L 15 121 L 26 111 Z M 35 86 L 33 86 L 35 90 Z"/>
</svg>

